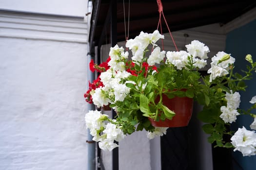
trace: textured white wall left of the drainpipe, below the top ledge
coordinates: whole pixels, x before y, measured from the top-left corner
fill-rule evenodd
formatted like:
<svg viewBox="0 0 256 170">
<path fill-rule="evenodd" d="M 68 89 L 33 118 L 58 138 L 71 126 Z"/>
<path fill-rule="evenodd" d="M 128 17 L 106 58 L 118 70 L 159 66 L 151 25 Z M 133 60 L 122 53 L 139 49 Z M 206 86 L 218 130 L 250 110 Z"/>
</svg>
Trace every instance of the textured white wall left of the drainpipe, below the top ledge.
<svg viewBox="0 0 256 170">
<path fill-rule="evenodd" d="M 31 19 L 39 30 L 0 25 L 0 170 L 85 170 L 86 35 L 76 42 L 56 24 L 55 38 L 48 21 Z"/>
</svg>

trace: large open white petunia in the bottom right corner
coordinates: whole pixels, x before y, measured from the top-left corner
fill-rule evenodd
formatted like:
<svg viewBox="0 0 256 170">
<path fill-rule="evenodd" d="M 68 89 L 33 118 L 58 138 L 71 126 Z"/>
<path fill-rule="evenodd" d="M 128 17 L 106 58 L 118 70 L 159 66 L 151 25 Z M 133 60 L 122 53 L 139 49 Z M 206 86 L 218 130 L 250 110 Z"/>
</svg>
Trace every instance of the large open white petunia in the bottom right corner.
<svg viewBox="0 0 256 170">
<path fill-rule="evenodd" d="M 238 128 L 234 136 L 231 137 L 234 151 L 240 151 L 243 156 L 256 154 L 256 133 L 248 131 L 245 127 Z"/>
</svg>

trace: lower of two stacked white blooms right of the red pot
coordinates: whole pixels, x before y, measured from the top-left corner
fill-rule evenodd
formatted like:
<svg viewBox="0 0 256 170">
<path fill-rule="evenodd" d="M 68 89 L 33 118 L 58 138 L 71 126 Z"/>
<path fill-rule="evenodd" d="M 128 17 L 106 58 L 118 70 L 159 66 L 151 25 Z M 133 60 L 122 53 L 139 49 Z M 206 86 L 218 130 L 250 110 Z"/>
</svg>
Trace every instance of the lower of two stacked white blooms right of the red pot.
<svg viewBox="0 0 256 170">
<path fill-rule="evenodd" d="M 236 121 L 236 116 L 239 115 L 236 109 L 221 106 L 220 111 L 222 114 L 219 116 L 225 123 L 232 123 Z"/>
</svg>

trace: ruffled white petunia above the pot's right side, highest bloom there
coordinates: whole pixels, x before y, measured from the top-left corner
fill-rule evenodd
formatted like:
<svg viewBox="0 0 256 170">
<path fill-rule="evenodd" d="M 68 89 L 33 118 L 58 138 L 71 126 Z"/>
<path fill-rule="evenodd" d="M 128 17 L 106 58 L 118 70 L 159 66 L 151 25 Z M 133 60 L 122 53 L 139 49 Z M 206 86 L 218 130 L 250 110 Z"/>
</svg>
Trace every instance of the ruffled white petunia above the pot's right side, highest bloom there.
<svg viewBox="0 0 256 170">
<path fill-rule="evenodd" d="M 209 48 L 198 40 L 193 40 L 191 44 L 188 44 L 185 47 L 193 57 L 200 57 L 201 59 L 208 58 L 207 53 L 210 52 Z"/>
</svg>

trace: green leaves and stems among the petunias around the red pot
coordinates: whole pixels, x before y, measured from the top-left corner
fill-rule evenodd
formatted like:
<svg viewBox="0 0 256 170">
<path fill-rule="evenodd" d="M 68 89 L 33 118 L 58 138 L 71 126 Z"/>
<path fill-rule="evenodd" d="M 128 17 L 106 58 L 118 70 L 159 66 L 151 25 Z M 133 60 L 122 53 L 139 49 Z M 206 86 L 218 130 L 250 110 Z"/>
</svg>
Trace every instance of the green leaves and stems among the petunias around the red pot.
<svg viewBox="0 0 256 170">
<path fill-rule="evenodd" d="M 158 73 L 149 74 L 145 78 L 146 70 L 141 65 L 136 65 L 135 69 L 141 70 L 138 76 L 130 76 L 129 80 L 137 82 L 140 85 L 126 83 L 131 88 L 133 95 L 118 103 L 122 112 L 119 116 L 127 129 L 128 134 L 135 130 L 147 131 L 154 130 L 148 118 L 172 119 L 175 113 L 162 103 L 162 95 L 172 99 L 174 97 L 193 98 L 203 106 L 203 109 L 197 114 L 197 118 L 205 124 L 202 130 L 209 134 L 208 141 L 214 143 L 216 147 L 231 148 L 230 142 L 224 141 L 224 135 L 232 135 L 227 129 L 227 124 L 220 119 L 220 107 L 226 105 L 225 94 L 233 91 L 244 91 L 247 87 L 246 80 L 252 78 L 252 71 L 256 69 L 256 63 L 247 67 L 244 74 L 233 73 L 234 66 L 230 66 L 229 76 L 219 77 L 210 82 L 210 75 L 201 76 L 193 66 L 192 57 L 188 57 L 188 69 L 178 70 L 172 65 L 160 65 Z M 148 70 L 153 73 L 153 70 Z M 144 86 L 143 86 L 144 85 Z M 181 90 L 186 89 L 186 90 Z M 158 100 L 157 100 L 158 98 Z M 111 104 L 111 107 L 116 106 Z M 248 113 L 249 114 L 249 113 Z M 120 115 L 120 114 L 119 114 Z M 133 118 L 131 120 L 130 118 Z M 135 126 L 137 128 L 135 129 Z"/>
</svg>

